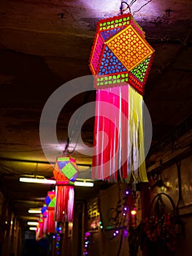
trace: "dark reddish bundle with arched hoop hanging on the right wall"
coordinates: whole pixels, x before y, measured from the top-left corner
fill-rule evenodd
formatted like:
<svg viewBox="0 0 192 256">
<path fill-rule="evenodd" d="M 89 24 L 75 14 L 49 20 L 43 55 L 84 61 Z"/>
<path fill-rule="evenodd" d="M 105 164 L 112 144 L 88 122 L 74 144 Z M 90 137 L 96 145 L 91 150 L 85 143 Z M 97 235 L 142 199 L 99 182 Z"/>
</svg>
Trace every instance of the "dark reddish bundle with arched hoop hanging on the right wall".
<svg viewBox="0 0 192 256">
<path fill-rule="evenodd" d="M 148 217 L 137 228 L 129 226 L 129 254 L 137 256 L 140 246 L 146 255 L 174 255 L 181 235 L 185 238 L 185 229 L 172 197 L 158 193 L 150 203 Z"/>
</svg>

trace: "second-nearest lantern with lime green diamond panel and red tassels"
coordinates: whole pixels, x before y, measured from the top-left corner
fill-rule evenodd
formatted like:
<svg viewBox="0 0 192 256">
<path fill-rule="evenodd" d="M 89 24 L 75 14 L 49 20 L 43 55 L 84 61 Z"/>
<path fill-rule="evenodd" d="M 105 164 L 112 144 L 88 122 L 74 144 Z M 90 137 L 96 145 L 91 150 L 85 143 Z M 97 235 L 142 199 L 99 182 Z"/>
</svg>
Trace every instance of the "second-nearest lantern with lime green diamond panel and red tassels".
<svg viewBox="0 0 192 256">
<path fill-rule="evenodd" d="M 74 181 L 78 168 L 75 159 L 69 156 L 58 157 L 53 170 L 56 180 L 55 220 L 73 222 Z"/>
</svg>

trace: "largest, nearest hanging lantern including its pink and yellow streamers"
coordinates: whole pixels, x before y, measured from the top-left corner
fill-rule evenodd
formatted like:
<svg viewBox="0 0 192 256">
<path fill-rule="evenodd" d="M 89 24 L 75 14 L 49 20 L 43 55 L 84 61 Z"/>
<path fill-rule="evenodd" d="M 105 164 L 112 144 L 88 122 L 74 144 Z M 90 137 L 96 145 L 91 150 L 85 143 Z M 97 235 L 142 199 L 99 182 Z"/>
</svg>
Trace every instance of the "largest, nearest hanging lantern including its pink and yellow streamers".
<svg viewBox="0 0 192 256">
<path fill-rule="evenodd" d="M 147 181 L 142 95 L 153 55 L 130 13 L 97 23 L 89 65 L 97 89 L 93 178 Z"/>
</svg>

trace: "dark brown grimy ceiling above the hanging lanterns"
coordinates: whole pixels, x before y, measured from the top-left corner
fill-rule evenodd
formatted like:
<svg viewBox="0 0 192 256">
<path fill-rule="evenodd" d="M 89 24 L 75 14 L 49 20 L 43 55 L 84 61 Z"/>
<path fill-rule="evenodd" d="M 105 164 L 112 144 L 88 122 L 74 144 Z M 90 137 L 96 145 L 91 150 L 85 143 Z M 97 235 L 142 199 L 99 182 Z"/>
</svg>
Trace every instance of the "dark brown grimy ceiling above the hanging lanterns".
<svg viewBox="0 0 192 256">
<path fill-rule="evenodd" d="M 144 97 L 155 143 L 191 115 L 192 3 L 132 2 L 131 12 L 155 49 Z M 0 2 L 1 191 L 12 200 L 15 213 L 23 219 L 28 215 L 27 209 L 41 205 L 47 189 L 51 189 L 18 181 L 22 174 L 53 176 L 53 165 L 47 161 L 39 139 L 42 109 L 64 83 L 91 75 L 88 59 L 96 22 L 118 15 L 119 7 L 119 0 Z M 57 135 L 63 148 L 69 119 L 85 99 L 94 101 L 95 91 L 88 97 L 80 94 L 70 99 L 59 115 Z M 92 146 L 93 118 L 82 127 L 82 139 Z M 55 151 L 62 154 L 61 148 L 55 147 Z M 90 178 L 91 157 L 77 151 L 73 156 L 80 166 L 80 176 Z M 76 188 L 76 199 L 84 200 L 95 192 L 96 188 Z"/>
</svg>

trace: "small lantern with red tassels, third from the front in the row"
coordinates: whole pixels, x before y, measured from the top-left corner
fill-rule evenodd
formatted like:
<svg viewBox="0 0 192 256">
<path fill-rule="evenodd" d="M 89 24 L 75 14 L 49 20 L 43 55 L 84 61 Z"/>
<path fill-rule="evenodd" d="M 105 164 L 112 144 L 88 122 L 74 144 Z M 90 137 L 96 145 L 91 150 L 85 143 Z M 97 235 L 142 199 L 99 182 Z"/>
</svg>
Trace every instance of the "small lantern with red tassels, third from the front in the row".
<svg viewBox="0 0 192 256">
<path fill-rule="evenodd" d="M 45 198 L 47 205 L 47 233 L 55 233 L 55 192 L 48 191 Z"/>
</svg>

